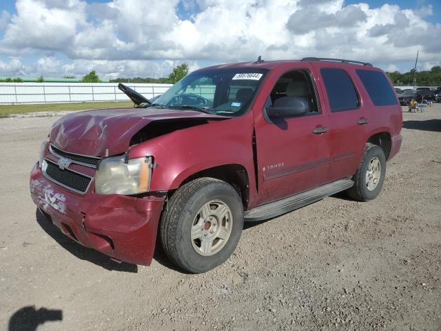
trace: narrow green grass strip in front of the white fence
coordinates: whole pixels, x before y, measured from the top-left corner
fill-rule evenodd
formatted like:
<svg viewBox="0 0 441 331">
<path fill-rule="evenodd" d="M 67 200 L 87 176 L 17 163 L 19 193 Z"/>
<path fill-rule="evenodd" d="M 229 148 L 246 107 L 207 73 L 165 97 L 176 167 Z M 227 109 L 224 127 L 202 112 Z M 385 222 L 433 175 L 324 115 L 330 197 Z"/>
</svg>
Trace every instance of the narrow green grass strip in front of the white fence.
<svg viewBox="0 0 441 331">
<path fill-rule="evenodd" d="M 26 112 L 59 112 L 62 110 L 88 110 L 103 108 L 133 107 L 132 101 L 44 103 L 37 105 L 0 105 L 0 117 Z"/>
</svg>

